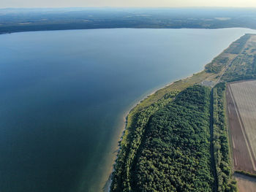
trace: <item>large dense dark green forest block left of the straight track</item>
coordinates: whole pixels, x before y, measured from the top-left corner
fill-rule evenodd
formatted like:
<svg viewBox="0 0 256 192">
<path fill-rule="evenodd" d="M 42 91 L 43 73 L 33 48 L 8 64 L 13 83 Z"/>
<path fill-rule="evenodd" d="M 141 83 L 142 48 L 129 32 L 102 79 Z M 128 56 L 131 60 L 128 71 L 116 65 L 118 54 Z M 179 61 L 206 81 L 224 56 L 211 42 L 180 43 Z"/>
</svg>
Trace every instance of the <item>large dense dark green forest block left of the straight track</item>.
<svg viewBox="0 0 256 192">
<path fill-rule="evenodd" d="M 154 112 L 111 191 L 212 191 L 209 105 L 210 88 L 194 85 Z"/>
</svg>

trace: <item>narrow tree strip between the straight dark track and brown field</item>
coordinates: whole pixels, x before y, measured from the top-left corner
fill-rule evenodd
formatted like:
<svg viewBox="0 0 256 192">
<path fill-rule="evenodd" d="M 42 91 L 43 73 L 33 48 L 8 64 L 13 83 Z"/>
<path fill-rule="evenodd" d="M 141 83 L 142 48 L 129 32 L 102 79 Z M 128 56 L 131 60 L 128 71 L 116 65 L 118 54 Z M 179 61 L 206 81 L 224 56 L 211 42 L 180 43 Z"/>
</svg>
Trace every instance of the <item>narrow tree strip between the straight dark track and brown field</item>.
<svg viewBox="0 0 256 192">
<path fill-rule="evenodd" d="M 237 191 L 236 180 L 232 178 L 230 151 L 225 123 L 225 82 L 217 84 L 213 89 L 213 127 L 214 127 L 214 161 L 217 171 L 217 191 Z"/>
</svg>

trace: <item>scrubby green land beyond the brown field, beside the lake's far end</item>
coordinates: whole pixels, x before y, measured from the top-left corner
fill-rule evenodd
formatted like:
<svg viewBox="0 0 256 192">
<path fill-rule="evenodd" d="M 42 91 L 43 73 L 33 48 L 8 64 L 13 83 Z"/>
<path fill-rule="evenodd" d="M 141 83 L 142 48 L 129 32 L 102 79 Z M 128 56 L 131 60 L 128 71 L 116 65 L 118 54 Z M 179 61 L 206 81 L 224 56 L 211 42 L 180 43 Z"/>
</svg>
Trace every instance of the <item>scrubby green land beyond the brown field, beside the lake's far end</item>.
<svg viewBox="0 0 256 192">
<path fill-rule="evenodd" d="M 252 48 L 252 42 L 249 42 L 250 37 L 251 34 L 245 34 L 233 42 L 223 53 L 206 65 L 206 72 L 214 74 L 224 72 L 221 80 L 225 82 L 255 79 L 256 51 Z M 250 44 L 246 45 L 246 42 Z"/>
</svg>

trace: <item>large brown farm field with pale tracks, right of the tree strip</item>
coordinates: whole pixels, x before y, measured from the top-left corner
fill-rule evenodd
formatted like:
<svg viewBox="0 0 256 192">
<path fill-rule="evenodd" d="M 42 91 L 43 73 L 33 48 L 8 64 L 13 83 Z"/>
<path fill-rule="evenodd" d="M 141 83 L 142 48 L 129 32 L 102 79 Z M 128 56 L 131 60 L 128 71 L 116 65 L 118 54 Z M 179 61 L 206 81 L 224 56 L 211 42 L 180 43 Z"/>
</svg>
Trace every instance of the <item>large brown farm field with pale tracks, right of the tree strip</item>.
<svg viewBox="0 0 256 192">
<path fill-rule="evenodd" d="M 256 80 L 229 83 L 226 94 L 234 169 L 255 174 Z"/>
</svg>

